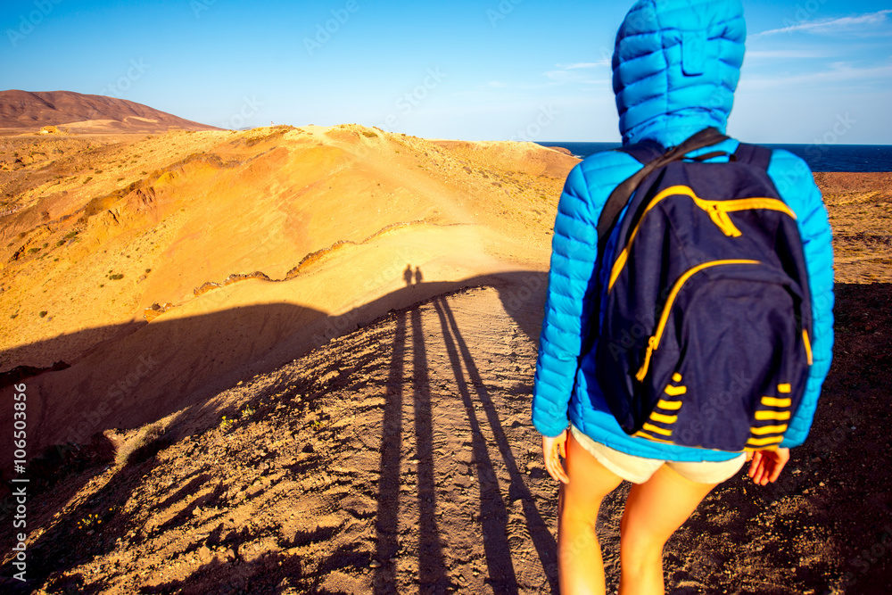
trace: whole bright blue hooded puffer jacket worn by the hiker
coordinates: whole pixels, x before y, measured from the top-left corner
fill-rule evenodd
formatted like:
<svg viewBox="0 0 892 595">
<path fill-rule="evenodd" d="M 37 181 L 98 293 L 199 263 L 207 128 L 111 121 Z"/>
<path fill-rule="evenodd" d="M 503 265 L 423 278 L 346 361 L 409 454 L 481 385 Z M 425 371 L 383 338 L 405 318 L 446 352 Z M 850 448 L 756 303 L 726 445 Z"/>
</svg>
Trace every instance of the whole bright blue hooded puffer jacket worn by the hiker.
<svg viewBox="0 0 892 595">
<path fill-rule="evenodd" d="M 614 92 L 624 144 L 648 139 L 664 147 L 681 144 L 707 127 L 724 131 L 743 62 L 746 25 L 739 0 L 640 0 L 620 28 L 613 59 Z M 738 142 L 690 153 L 721 149 Z M 727 157 L 711 161 L 727 161 Z M 549 292 L 542 324 L 533 392 L 533 424 L 547 436 L 568 421 L 597 442 L 640 457 L 667 460 L 725 460 L 719 450 L 692 449 L 634 438 L 623 432 L 607 407 L 593 370 L 591 312 L 593 275 L 599 274 L 600 211 L 614 187 L 640 169 L 626 153 L 597 153 L 566 179 L 552 242 Z M 797 214 L 805 244 L 814 309 L 814 364 L 802 405 L 781 446 L 805 441 L 833 344 L 833 267 L 830 225 L 821 193 L 805 162 L 774 151 L 768 169 L 780 196 Z M 613 246 L 607 244 L 607 258 Z"/>
</svg>

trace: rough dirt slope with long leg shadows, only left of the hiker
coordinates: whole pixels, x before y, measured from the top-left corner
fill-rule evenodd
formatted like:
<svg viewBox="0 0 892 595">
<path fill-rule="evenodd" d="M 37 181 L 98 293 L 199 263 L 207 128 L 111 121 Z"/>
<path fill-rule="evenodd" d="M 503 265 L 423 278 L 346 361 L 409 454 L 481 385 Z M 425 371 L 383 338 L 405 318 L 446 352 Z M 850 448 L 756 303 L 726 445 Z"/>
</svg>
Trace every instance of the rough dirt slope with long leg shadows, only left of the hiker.
<svg viewBox="0 0 892 595">
<path fill-rule="evenodd" d="M 132 433 L 131 462 L 57 485 L 34 513 L 62 508 L 37 521 L 36 592 L 549 591 L 534 345 L 503 305 L 541 300 L 516 292 L 394 312 L 220 395 L 240 407 Z M 91 514 L 103 524 L 78 528 Z"/>
</svg>

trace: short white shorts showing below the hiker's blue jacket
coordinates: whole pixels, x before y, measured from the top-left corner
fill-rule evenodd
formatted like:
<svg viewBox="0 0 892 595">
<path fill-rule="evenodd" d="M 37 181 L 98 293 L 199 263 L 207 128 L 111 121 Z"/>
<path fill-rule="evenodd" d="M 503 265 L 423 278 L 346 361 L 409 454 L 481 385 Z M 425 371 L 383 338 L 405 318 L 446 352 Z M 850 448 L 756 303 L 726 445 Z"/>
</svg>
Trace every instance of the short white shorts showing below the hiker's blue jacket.
<svg viewBox="0 0 892 595">
<path fill-rule="evenodd" d="M 741 454 L 731 460 L 723 461 L 674 461 L 661 459 L 645 459 L 635 455 L 625 454 L 614 450 L 600 442 L 593 441 L 589 436 L 582 434 L 576 426 L 570 426 L 570 432 L 583 449 L 598 459 L 598 462 L 619 475 L 624 480 L 632 483 L 644 483 L 651 475 L 657 473 L 657 469 L 667 465 L 675 473 L 685 479 L 696 483 L 722 483 L 730 479 L 747 462 L 747 455 Z"/>
</svg>

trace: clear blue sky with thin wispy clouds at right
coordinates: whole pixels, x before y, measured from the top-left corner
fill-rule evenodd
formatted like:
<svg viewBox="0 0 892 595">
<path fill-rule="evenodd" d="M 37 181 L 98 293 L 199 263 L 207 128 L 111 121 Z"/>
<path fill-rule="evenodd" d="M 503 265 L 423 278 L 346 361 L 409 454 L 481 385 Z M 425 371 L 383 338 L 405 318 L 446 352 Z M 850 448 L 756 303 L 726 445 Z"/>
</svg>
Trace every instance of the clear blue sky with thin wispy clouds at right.
<svg viewBox="0 0 892 595">
<path fill-rule="evenodd" d="M 743 0 L 729 132 L 892 144 L 888 0 Z M 618 141 L 609 56 L 632 2 L 5 0 L 0 89 L 111 95 L 224 128 Z"/>
</svg>

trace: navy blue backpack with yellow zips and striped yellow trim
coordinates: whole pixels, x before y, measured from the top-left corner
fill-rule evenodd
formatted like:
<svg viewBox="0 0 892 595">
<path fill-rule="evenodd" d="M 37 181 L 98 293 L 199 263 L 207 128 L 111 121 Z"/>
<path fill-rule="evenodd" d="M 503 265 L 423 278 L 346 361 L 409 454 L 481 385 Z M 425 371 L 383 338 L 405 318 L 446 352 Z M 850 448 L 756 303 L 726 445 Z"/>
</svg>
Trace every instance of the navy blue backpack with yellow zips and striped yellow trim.
<svg viewBox="0 0 892 595">
<path fill-rule="evenodd" d="M 596 377 L 627 434 L 717 450 L 783 440 L 812 363 L 812 308 L 796 214 L 768 177 L 771 152 L 714 128 L 645 163 L 617 186 L 598 224 L 601 278 Z M 632 200 L 629 198 L 632 196 Z M 626 209 L 621 223 L 615 224 Z"/>
</svg>

